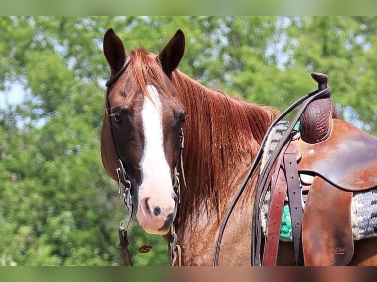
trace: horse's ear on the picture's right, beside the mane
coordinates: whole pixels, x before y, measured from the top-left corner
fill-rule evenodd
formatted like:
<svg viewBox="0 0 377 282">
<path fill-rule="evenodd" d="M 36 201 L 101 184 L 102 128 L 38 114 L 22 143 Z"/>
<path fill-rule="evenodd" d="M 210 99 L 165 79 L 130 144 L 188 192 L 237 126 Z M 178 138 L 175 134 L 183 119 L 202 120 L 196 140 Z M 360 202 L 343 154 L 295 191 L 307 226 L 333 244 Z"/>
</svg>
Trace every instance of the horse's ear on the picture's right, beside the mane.
<svg viewBox="0 0 377 282">
<path fill-rule="evenodd" d="M 178 29 L 169 43 L 162 49 L 158 55 L 162 68 L 168 77 L 173 70 L 178 67 L 185 51 L 185 35 L 181 29 Z"/>
</svg>

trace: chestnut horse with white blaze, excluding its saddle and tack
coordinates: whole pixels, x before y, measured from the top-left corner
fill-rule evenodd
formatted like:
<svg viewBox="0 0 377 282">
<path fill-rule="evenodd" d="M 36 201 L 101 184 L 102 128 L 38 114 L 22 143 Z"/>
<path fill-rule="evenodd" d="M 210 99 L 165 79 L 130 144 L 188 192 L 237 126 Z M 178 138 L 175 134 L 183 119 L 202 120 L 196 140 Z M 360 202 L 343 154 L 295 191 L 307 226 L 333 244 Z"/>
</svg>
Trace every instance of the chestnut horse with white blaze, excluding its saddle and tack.
<svg viewBox="0 0 377 282">
<path fill-rule="evenodd" d="M 212 265 L 224 214 L 278 115 L 207 88 L 177 70 L 185 37 L 178 30 L 158 54 L 125 53 L 109 29 L 103 50 L 114 78 L 103 119 L 103 165 L 116 181 L 119 160 L 127 175 L 133 209 L 148 233 L 168 239 L 174 221 L 182 265 Z M 183 165 L 180 130 L 183 130 Z M 180 195 L 174 171 L 184 170 Z M 250 265 L 251 213 L 256 176 L 235 207 L 222 239 L 220 265 Z M 351 264 L 377 263 L 377 240 L 355 242 Z M 278 264 L 294 265 L 292 243 L 280 243 Z"/>
</svg>

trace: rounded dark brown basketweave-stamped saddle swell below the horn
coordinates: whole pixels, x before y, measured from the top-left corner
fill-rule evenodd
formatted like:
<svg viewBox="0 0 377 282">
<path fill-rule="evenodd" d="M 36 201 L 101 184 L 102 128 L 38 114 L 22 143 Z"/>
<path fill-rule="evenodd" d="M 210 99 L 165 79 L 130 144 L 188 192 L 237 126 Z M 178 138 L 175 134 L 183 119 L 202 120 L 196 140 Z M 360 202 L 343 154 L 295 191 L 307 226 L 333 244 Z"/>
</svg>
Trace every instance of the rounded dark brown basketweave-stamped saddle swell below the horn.
<svg viewBox="0 0 377 282">
<path fill-rule="evenodd" d="M 314 100 L 301 116 L 300 133 L 303 141 L 314 144 L 327 139 L 332 128 L 331 98 Z"/>
</svg>

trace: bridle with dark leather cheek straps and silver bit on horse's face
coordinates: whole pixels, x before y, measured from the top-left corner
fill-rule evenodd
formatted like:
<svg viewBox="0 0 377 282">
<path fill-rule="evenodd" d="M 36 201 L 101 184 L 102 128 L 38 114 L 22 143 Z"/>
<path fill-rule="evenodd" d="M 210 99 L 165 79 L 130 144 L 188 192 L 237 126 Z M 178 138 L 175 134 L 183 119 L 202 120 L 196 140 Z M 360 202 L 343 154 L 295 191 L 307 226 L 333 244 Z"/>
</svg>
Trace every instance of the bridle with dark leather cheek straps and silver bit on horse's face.
<svg viewBox="0 0 377 282">
<path fill-rule="evenodd" d="M 112 85 L 118 80 L 118 78 L 125 72 L 126 68 L 128 67 L 130 62 L 130 57 L 128 56 L 126 58 L 125 63 L 123 64 L 122 68 L 120 71 L 118 71 L 116 74 L 112 75 L 110 79 L 106 82 L 106 113 L 107 116 L 109 117 L 110 121 L 110 130 L 111 130 L 111 136 L 113 138 L 114 146 L 115 146 L 115 151 L 118 157 L 118 167 L 116 168 L 117 172 L 117 177 L 118 177 L 118 193 L 120 198 L 123 198 L 123 202 L 126 205 L 126 208 L 128 210 L 128 214 L 125 220 L 121 221 L 119 224 L 119 230 L 118 230 L 118 235 L 119 235 L 119 246 L 121 247 L 123 258 L 125 261 L 125 264 L 128 266 L 132 266 L 132 260 L 131 256 L 128 251 L 128 238 L 127 238 L 127 229 L 129 226 L 129 222 L 131 221 L 132 215 L 133 215 L 133 205 L 132 205 L 132 195 L 131 195 L 131 181 L 128 178 L 128 175 L 126 173 L 126 170 L 123 166 L 123 163 L 121 161 L 120 155 L 117 150 L 117 146 L 115 143 L 115 136 L 114 136 L 114 131 L 113 131 L 113 126 L 112 126 L 112 121 L 111 121 L 111 116 L 112 114 L 109 114 L 108 111 L 110 111 L 110 101 L 109 101 L 109 94 Z M 177 163 L 174 167 L 174 172 L 173 172 L 173 189 L 176 191 L 178 194 L 178 203 L 181 202 L 181 185 L 180 185 L 180 174 L 178 172 L 178 165 L 181 166 L 181 173 L 182 173 L 182 181 L 184 184 L 184 187 L 186 188 L 186 179 L 185 179 L 185 174 L 183 170 L 183 149 L 184 149 L 184 135 L 183 135 L 183 130 L 182 128 L 179 131 L 179 137 L 180 137 L 180 149 L 179 149 L 179 159 L 177 160 Z M 123 184 L 123 190 L 121 189 L 121 183 Z M 170 263 L 171 265 L 175 265 L 176 260 L 178 258 L 178 264 L 181 264 L 181 247 L 177 244 L 177 233 L 175 232 L 175 227 L 174 227 L 174 218 L 177 214 L 177 207 L 178 203 L 176 203 L 176 208 L 173 216 L 173 221 L 170 226 L 170 234 L 169 234 L 169 255 L 170 255 Z"/>
</svg>

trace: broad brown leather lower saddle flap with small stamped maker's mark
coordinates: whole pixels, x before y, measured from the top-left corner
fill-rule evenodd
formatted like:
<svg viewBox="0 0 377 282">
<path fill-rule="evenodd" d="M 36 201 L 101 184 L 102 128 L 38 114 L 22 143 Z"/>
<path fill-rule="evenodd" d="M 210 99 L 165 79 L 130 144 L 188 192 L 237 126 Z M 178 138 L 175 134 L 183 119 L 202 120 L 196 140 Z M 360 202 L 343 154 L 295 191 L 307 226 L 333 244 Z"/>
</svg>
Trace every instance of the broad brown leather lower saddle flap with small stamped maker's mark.
<svg viewBox="0 0 377 282">
<path fill-rule="evenodd" d="M 352 192 L 315 177 L 305 204 L 302 244 L 305 265 L 347 265 L 353 256 Z M 336 207 L 336 208 L 334 208 Z"/>
</svg>

